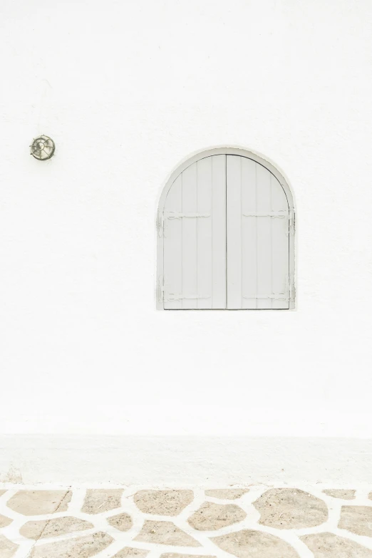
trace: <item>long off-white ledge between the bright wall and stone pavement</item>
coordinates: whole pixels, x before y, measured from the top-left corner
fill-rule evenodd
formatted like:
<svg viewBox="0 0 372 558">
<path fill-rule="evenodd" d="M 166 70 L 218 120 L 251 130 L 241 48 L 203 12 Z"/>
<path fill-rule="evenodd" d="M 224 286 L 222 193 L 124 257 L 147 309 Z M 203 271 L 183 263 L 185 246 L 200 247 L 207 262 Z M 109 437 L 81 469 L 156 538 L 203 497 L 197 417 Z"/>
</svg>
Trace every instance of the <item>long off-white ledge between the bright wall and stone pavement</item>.
<svg viewBox="0 0 372 558">
<path fill-rule="evenodd" d="M 371 471 L 371 439 L 0 436 L 1 482 L 352 485 Z"/>
</svg>

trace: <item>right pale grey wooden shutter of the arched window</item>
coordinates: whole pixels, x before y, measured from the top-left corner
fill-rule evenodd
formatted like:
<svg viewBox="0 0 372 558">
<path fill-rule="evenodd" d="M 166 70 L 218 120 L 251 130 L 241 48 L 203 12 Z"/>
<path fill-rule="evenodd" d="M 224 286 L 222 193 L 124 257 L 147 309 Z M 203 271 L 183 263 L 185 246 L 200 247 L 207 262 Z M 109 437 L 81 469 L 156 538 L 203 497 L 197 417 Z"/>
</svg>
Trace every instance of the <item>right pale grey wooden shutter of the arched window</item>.
<svg viewBox="0 0 372 558">
<path fill-rule="evenodd" d="M 288 309 L 289 205 L 279 181 L 227 155 L 227 309 Z"/>
</svg>

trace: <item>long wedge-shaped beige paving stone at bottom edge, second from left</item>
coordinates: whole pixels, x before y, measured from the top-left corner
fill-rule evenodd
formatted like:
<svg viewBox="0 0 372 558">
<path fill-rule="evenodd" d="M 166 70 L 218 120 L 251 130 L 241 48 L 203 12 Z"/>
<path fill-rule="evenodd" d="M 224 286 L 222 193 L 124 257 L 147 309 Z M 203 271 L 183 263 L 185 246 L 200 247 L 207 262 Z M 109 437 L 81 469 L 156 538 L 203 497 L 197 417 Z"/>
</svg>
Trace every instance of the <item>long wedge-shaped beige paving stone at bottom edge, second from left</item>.
<svg viewBox="0 0 372 558">
<path fill-rule="evenodd" d="M 104 532 L 89 534 L 78 539 L 48 542 L 33 547 L 30 558 L 90 558 L 108 547 L 113 538 Z"/>
</svg>

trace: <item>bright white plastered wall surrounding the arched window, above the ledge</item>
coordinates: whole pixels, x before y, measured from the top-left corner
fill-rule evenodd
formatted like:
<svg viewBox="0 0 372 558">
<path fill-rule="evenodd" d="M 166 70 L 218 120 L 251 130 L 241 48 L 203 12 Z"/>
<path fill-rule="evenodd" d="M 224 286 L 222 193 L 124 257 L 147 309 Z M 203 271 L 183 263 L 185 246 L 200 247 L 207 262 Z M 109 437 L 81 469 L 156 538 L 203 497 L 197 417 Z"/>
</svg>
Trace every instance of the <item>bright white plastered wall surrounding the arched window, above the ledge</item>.
<svg viewBox="0 0 372 558">
<path fill-rule="evenodd" d="M 0 11 L 0 433 L 372 438 L 370 2 Z M 296 311 L 155 310 L 162 186 L 221 145 L 294 191 Z"/>
</svg>

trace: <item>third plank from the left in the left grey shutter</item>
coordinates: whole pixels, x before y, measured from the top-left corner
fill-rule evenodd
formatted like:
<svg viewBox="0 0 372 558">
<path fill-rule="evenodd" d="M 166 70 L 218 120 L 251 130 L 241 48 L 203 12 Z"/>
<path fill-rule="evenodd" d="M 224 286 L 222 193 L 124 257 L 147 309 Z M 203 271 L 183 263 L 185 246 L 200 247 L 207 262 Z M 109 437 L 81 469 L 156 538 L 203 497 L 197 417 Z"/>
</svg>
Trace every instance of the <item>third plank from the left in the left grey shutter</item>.
<svg viewBox="0 0 372 558">
<path fill-rule="evenodd" d="M 212 157 L 197 162 L 197 299 L 199 309 L 212 308 Z"/>
</svg>

